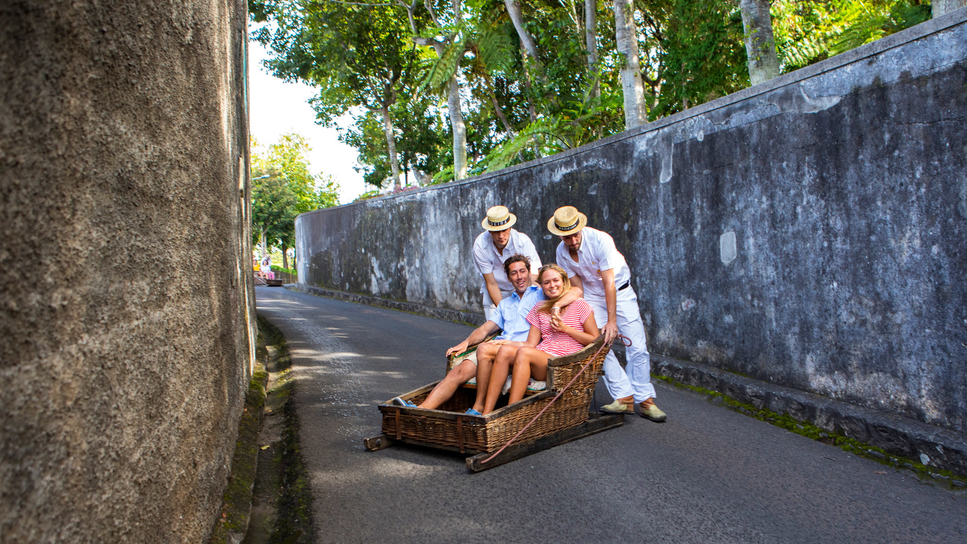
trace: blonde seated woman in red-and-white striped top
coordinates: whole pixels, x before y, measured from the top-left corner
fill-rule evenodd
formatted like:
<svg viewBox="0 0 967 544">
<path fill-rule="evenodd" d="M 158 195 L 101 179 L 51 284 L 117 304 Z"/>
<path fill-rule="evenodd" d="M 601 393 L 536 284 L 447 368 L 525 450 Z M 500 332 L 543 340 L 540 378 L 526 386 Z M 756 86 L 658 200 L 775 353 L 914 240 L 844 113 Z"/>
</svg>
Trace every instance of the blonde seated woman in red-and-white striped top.
<svg viewBox="0 0 967 544">
<path fill-rule="evenodd" d="M 571 290 L 568 274 L 557 264 L 545 264 L 538 272 L 538 285 L 547 300 L 527 315 L 531 331 L 523 347 L 504 346 L 497 351 L 487 385 L 484 414 L 493 411 L 507 375 L 513 371 L 511 398 L 515 403 L 524 398 L 530 378 L 547 378 L 547 359 L 570 355 L 598 338 L 594 311 L 583 298 L 571 302 L 560 314 L 551 307 Z M 555 309 L 556 310 L 556 309 Z"/>
</svg>

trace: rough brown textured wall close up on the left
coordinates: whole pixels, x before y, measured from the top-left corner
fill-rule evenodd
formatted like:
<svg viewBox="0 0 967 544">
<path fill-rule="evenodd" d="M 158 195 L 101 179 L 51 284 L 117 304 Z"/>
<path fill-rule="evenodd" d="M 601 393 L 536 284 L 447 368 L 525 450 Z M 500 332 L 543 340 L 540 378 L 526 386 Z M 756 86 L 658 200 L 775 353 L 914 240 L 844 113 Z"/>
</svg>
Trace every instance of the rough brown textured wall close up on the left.
<svg viewBox="0 0 967 544">
<path fill-rule="evenodd" d="M 247 6 L 0 6 L 0 540 L 201 542 L 252 357 Z"/>
</svg>

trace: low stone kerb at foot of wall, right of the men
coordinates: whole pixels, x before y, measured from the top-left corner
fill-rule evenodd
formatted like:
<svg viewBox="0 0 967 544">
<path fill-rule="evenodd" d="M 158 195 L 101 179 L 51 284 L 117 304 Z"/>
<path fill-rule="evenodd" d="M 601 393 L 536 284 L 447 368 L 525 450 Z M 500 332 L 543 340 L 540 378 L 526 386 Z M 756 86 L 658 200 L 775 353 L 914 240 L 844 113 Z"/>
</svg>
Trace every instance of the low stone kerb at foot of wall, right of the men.
<svg viewBox="0 0 967 544">
<path fill-rule="evenodd" d="M 967 436 L 952 429 L 654 353 L 652 373 L 718 391 L 755 408 L 788 414 L 894 455 L 918 460 L 924 454 L 930 467 L 967 475 Z"/>
</svg>

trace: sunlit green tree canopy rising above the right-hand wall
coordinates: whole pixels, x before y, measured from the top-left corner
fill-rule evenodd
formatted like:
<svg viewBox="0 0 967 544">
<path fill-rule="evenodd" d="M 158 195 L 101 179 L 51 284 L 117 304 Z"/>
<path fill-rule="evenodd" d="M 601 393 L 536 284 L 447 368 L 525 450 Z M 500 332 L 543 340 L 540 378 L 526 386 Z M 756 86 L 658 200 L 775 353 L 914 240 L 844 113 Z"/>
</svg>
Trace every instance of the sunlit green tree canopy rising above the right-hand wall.
<svg viewBox="0 0 967 544">
<path fill-rule="evenodd" d="M 749 84 L 739 0 L 250 0 L 249 10 L 265 23 L 253 39 L 272 50 L 267 67 L 316 87 L 318 122 L 351 116 L 340 139 L 376 188 L 447 182 L 626 130 L 629 30 L 644 121 Z M 922 0 L 774 0 L 770 11 L 782 73 L 930 17 Z"/>
</svg>

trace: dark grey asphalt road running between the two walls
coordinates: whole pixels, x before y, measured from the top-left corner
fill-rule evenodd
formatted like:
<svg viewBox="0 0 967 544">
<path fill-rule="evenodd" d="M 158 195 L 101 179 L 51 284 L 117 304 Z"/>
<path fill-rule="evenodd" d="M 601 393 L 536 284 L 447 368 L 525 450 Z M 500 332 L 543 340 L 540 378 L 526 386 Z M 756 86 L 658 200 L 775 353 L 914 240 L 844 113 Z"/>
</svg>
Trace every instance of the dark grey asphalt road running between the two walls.
<svg viewBox="0 0 967 544">
<path fill-rule="evenodd" d="M 375 405 L 441 378 L 472 329 L 280 287 L 256 297 L 292 354 L 317 542 L 967 542 L 967 497 L 660 383 L 666 423 L 626 417 L 476 474 L 456 454 L 367 452 Z"/>
</svg>

